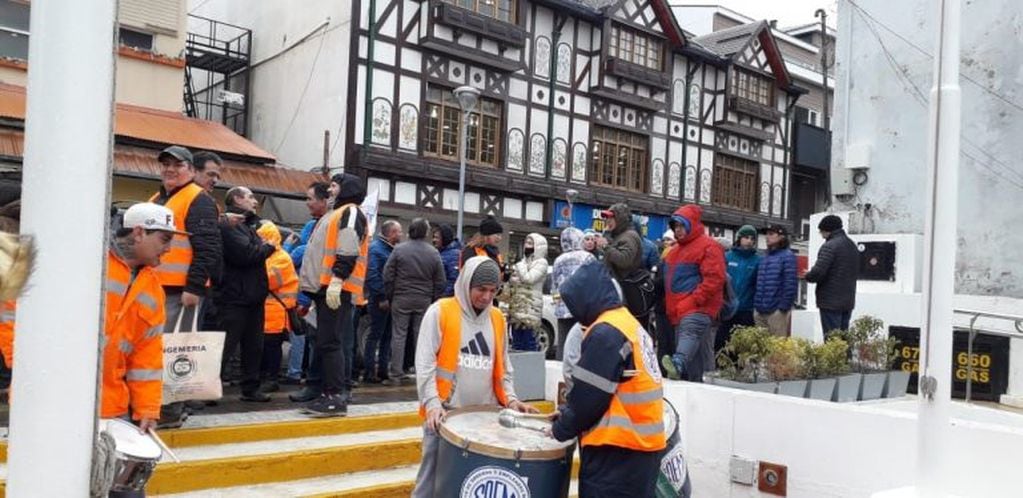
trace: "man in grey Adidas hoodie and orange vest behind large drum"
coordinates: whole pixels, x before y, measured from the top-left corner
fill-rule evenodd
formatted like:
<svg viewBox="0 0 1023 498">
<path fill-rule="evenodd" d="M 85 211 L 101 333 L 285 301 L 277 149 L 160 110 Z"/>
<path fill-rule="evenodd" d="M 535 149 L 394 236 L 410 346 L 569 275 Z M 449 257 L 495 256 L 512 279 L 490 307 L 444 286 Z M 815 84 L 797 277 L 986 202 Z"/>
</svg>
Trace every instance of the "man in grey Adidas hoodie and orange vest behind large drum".
<svg viewBox="0 0 1023 498">
<path fill-rule="evenodd" d="M 437 301 L 422 316 L 415 377 L 425 427 L 415 498 L 434 496 L 437 429 L 448 410 L 501 405 L 538 412 L 519 401 L 511 383 L 504 315 L 493 306 L 500 280 L 497 263 L 486 256 L 472 257 L 455 280 L 454 297 Z"/>
</svg>

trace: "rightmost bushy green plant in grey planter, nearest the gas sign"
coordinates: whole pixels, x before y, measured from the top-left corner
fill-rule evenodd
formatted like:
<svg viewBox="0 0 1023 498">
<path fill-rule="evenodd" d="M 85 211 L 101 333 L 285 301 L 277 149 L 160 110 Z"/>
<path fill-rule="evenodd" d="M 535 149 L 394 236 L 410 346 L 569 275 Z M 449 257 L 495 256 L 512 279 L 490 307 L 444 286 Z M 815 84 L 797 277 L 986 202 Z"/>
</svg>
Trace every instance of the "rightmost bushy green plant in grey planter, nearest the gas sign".
<svg viewBox="0 0 1023 498">
<path fill-rule="evenodd" d="M 873 316 L 861 316 L 852 322 L 846 336 L 852 353 L 854 371 L 863 375 L 859 400 L 881 398 L 888 381 L 888 371 L 895 360 L 898 339 L 884 333 L 885 323 Z"/>
</svg>

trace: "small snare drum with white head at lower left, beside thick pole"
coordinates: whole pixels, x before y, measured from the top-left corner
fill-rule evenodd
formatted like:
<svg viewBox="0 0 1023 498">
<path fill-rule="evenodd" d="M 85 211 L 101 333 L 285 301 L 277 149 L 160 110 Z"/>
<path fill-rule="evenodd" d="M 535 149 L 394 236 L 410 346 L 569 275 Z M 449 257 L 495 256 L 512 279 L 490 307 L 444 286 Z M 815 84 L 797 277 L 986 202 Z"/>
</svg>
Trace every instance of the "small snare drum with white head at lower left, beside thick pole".
<svg viewBox="0 0 1023 498">
<path fill-rule="evenodd" d="M 160 461 L 160 446 L 138 427 L 120 418 L 100 421 L 100 429 L 110 435 L 117 457 L 113 491 L 142 491 Z"/>
</svg>

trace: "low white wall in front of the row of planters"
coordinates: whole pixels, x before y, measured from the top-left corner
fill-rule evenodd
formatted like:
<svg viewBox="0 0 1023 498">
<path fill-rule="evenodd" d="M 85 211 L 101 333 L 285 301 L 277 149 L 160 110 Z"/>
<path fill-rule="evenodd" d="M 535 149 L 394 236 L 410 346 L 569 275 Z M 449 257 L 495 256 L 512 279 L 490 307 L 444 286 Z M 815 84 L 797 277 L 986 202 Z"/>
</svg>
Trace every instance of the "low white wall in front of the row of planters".
<svg viewBox="0 0 1023 498">
<path fill-rule="evenodd" d="M 547 362 L 548 395 L 561 367 Z M 548 398 L 552 399 L 552 398 Z M 731 483 L 732 455 L 788 466 L 790 498 L 866 497 L 915 477 L 916 401 L 829 403 L 667 380 L 679 413 L 695 498 L 769 497 Z M 1023 490 L 1023 416 L 957 404 L 950 494 L 1015 497 Z"/>
</svg>

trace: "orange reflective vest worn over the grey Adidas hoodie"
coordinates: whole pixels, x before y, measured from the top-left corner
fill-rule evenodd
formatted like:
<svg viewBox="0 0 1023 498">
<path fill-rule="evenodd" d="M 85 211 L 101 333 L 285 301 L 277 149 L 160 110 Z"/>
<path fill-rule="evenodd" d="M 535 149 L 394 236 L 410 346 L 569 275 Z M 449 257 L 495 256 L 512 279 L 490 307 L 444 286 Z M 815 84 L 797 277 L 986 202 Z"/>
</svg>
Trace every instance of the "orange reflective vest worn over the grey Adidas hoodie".
<svg viewBox="0 0 1023 498">
<path fill-rule="evenodd" d="M 437 302 L 440 306 L 441 349 L 437 353 L 437 394 L 441 403 L 451 399 L 454 390 L 454 374 L 458 369 L 458 354 L 461 347 L 461 305 L 455 298 L 444 298 Z M 490 323 L 494 327 L 494 351 L 491 359 L 494 363 L 492 383 L 494 395 L 501 406 L 507 406 L 508 399 L 504 393 L 504 315 L 496 307 L 490 308 Z M 426 418 L 427 407 L 419 404 L 419 416 Z"/>
</svg>

